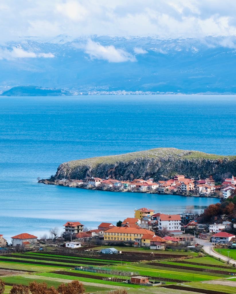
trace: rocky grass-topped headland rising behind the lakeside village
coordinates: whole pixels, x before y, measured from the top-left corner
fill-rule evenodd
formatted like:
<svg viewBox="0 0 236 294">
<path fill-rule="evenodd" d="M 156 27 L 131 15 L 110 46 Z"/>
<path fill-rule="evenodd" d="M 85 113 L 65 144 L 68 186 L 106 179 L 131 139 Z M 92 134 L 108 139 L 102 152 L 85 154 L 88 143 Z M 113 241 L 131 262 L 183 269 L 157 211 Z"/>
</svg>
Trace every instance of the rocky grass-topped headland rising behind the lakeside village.
<svg viewBox="0 0 236 294">
<path fill-rule="evenodd" d="M 236 173 L 236 156 L 218 156 L 175 148 L 156 148 L 115 156 L 62 163 L 55 179 L 83 179 L 91 176 L 118 180 L 154 178 L 165 180 L 174 174 L 220 181 Z"/>
</svg>

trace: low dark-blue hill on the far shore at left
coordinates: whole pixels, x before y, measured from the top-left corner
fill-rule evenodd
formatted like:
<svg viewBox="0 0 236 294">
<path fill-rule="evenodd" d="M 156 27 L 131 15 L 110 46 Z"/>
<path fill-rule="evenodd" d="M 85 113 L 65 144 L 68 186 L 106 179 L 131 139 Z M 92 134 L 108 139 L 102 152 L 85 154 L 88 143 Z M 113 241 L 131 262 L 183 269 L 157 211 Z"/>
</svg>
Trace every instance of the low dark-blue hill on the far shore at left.
<svg viewBox="0 0 236 294">
<path fill-rule="evenodd" d="M 1 96 L 71 96 L 69 91 L 45 89 L 36 86 L 19 86 L 4 91 Z"/>
</svg>

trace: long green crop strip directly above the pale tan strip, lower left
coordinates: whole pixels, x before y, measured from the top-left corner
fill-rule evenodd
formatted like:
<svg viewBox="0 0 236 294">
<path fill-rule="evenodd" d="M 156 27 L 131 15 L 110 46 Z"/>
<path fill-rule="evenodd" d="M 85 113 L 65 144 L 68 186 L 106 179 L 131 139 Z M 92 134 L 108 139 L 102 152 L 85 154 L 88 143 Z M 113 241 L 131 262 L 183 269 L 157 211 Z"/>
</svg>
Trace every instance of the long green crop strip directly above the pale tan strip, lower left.
<svg viewBox="0 0 236 294">
<path fill-rule="evenodd" d="M 74 277 L 70 275 L 60 275 L 55 273 L 38 273 L 37 275 L 43 276 L 43 277 L 50 277 L 50 278 L 60 278 L 65 280 L 79 280 L 81 282 L 89 282 L 89 283 L 96 283 L 96 284 L 105 284 L 105 285 L 113 285 L 113 286 L 121 286 L 121 287 L 133 287 L 133 288 L 139 288 L 140 285 L 131 285 L 126 283 L 117 283 L 112 281 L 104 281 L 104 280 L 96 280 L 92 278 L 84 278 L 84 277 Z"/>
</svg>

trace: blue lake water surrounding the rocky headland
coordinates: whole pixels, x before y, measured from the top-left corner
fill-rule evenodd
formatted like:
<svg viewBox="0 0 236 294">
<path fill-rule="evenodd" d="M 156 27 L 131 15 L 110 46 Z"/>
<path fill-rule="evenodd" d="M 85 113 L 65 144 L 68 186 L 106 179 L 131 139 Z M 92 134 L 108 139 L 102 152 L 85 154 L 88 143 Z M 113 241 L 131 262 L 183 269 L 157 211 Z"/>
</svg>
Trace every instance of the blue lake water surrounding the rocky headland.
<svg viewBox="0 0 236 294">
<path fill-rule="evenodd" d="M 134 208 L 181 213 L 214 198 L 112 193 L 38 184 L 64 161 L 176 147 L 235 154 L 235 96 L 0 98 L 0 234 L 37 236 L 67 220 L 88 228 Z"/>
</svg>

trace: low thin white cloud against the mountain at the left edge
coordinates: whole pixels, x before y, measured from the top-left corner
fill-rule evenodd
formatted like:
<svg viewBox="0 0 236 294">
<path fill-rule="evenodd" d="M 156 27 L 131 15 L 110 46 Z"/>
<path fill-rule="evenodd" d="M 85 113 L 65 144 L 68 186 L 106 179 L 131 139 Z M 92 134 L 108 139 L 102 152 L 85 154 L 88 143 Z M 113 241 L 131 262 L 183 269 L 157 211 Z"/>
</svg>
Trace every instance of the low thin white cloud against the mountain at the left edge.
<svg viewBox="0 0 236 294">
<path fill-rule="evenodd" d="M 53 58 L 55 57 L 52 53 L 35 53 L 32 51 L 26 51 L 19 47 L 13 47 L 12 50 L 0 49 L 0 59 L 16 59 L 16 58 Z"/>
</svg>

